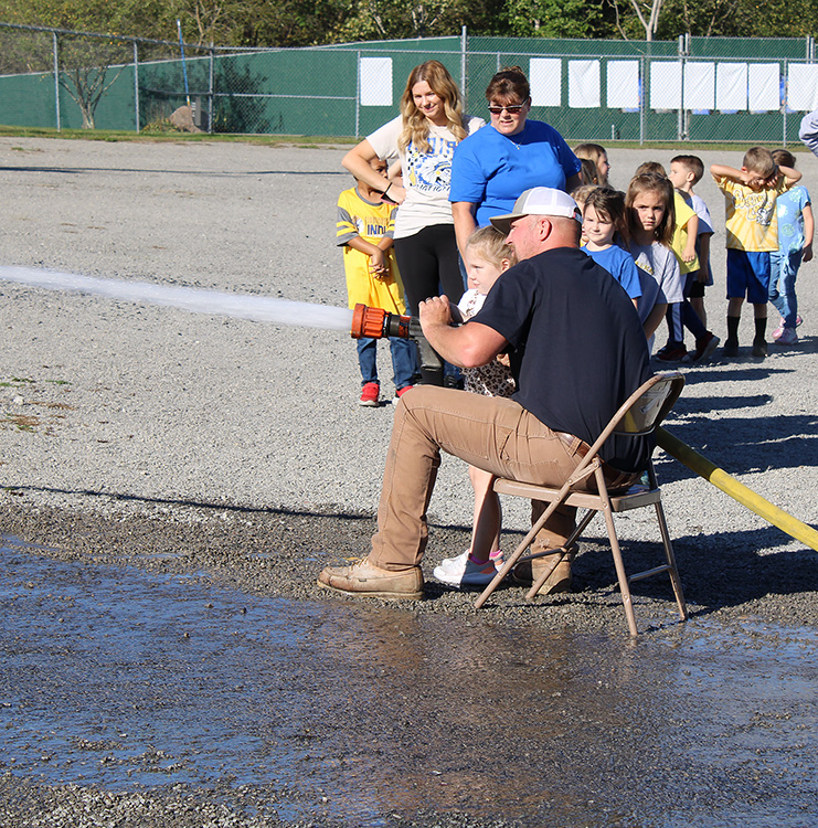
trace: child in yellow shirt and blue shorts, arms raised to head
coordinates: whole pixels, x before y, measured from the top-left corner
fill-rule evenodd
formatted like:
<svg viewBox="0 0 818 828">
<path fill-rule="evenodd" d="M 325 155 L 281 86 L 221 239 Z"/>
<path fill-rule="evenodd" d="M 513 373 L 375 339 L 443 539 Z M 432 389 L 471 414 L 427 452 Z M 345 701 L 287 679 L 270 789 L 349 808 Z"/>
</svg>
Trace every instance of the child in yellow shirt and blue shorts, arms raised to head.
<svg viewBox="0 0 818 828">
<path fill-rule="evenodd" d="M 710 172 L 724 193 L 727 244 L 727 339 L 725 357 L 739 355 L 739 321 L 745 297 L 755 311 L 753 357 L 767 355 L 769 254 L 778 250 L 776 200 L 801 173 L 776 164 L 768 149 L 751 147 L 742 168 L 714 163 Z"/>
</svg>

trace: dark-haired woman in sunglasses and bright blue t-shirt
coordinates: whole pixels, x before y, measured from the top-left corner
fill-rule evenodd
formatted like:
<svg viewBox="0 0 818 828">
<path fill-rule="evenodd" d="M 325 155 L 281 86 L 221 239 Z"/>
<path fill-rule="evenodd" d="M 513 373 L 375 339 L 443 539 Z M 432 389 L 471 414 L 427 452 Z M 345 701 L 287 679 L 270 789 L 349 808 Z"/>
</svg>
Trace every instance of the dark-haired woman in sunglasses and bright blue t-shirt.
<svg viewBox="0 0 818 828">
<path fill-rule="evenodd" d="M 492 215 L 510 213 L 532 187 L 571 192 L 581 163 L 563 137 L 531 110 L 529 82 L 519 66 L 498 72 L 486 89 L 491 123 L 461 141 L 452 161 L 449 201 L 460 255 L 466 241 Z"/>
</svg>

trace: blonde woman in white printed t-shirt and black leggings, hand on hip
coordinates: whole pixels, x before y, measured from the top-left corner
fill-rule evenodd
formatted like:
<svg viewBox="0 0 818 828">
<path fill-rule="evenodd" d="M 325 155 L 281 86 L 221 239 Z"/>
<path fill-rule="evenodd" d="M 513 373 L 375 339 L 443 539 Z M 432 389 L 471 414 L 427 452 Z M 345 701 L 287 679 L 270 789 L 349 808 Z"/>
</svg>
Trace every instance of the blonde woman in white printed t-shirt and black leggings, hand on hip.
<svg viewBox="0 0 818 828">
<path fill-rule="evenodd" d="M 410 311 L 443 293 L 456 305 L 464 293 L 449 206 L 455 147 L 485 126 L 463 114 L 460 92 L 439 61 L 426 61 L 410 73 L 401 114 L 368 136 L 343 158 L 360 181 L 382 190 L 370 161 L 400 159 L 403 184 L 391 183 L 385 197 L 400 204 L 394 250 Z M 432 376 L 424 376 L 432 380 Z"/>
</svg>

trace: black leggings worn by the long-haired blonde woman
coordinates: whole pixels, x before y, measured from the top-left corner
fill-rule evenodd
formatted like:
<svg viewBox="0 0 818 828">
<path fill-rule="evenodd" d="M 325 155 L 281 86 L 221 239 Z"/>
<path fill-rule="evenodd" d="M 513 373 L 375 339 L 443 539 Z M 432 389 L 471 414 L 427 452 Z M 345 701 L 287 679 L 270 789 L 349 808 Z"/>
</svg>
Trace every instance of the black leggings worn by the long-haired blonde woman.
<svg viewBox="0 0 818 828">
<path fill-rule="evenodd" d="M 419 302 L 442 291 L 454 305 L 460 301 L 464 284 L 454 224 L 433 224 L 414 235 L 395 238 L 394 247 L 412 316 L 417 316 Z M 421 376 L 427 385 L 443 384 L 439 370 L 421 368 Z"/>
</svg>

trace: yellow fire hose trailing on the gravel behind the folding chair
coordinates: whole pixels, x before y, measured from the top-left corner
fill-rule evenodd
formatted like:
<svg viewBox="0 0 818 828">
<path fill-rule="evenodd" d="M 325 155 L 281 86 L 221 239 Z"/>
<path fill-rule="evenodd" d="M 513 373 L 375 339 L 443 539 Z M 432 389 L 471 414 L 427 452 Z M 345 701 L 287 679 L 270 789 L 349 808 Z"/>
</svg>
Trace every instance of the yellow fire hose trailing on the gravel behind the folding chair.
<svg viewBox="0 0 818 828">
<path fill-rule="evenodd" d="M 744 484 L 740 484 L 734 477 L 720 469 L 707 457 L 694 452 L 687 443 L 682 443 L 678 437 L 659 426 L 656 431 L 657 443 L 671 456 L 676 457 L 679 463 L 683 463 L 691 471 L 703 477 L 708 482 L 713 484 L 733 500 L 737 500 L 742 506 L 764 518 L 792 538 L 806 543 L 807 546 L 818 551 L 818 532 L 801 523 L 800 520 L 788 514 L 777 506 L 773 506 L 761 495 L 756 495 Z"/>
</svg>

